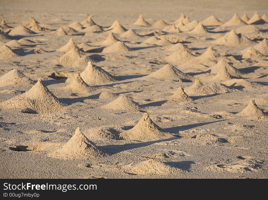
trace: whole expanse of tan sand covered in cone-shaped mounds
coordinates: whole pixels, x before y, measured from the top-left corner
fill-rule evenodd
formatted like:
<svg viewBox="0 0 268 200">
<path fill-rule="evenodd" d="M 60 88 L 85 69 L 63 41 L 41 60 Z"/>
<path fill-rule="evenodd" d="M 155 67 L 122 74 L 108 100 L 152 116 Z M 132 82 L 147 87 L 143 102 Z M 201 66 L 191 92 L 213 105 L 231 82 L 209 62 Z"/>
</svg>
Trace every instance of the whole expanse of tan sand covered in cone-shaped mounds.
<svg viewBox="0 0 268 200">
<path fill-rule="evenodd" d="M 0 1 L 0 178 L 268 178 L 267 15 Z"/>
</svg>

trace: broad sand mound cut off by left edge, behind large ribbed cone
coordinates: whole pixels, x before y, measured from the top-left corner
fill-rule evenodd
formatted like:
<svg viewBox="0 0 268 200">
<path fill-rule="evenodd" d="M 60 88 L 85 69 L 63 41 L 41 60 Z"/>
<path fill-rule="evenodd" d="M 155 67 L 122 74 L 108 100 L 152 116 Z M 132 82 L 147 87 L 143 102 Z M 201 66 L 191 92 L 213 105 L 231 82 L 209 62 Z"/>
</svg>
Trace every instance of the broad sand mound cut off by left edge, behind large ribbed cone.
<svg viewBox="0 0 268 200">
<path fill-rule="evenodd" d="M 13 69 L 0 77 L 0 87 L 28 84 L 33 84 L 33 81 L 17 69 Z"/>
</svg>

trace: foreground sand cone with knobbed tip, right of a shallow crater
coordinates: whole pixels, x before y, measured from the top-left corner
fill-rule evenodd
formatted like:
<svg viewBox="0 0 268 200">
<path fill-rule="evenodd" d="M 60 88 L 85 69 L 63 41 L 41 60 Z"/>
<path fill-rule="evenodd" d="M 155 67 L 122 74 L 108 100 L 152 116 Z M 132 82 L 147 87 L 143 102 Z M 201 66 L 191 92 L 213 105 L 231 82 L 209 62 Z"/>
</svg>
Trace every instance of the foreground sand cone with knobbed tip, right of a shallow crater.
<svg viewBox="0 0 268 200">
<path fill-rule="evenodd" d="M 120 137 L 123 139 L 139 141 L 157 140 L 167 136 L 170 135 L 162 132 L 161 128 L 150 119 L 148 113 L 144 113 L 143 117 L 133 128 L 120 134 Z"/>
</svg>

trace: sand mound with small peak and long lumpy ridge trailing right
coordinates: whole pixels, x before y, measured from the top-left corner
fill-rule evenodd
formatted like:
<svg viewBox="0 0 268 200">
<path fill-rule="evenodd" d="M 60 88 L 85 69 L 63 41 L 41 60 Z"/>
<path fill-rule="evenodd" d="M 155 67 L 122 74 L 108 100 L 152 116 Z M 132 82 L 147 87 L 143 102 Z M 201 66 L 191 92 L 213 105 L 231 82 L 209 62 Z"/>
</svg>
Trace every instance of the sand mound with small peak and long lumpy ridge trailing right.
<svg viewBox="0 0 268 200">
<path fill-rule="evenodd" d="M 194 84 L 184 89 L 189 95 L 210 95 L 210 94 L 223 94 L 227 92 L 232 92 L 223 84 L 213 83 L 211 85 L 203 85 L 203 83 L 196 79 Z"/>
</svg>

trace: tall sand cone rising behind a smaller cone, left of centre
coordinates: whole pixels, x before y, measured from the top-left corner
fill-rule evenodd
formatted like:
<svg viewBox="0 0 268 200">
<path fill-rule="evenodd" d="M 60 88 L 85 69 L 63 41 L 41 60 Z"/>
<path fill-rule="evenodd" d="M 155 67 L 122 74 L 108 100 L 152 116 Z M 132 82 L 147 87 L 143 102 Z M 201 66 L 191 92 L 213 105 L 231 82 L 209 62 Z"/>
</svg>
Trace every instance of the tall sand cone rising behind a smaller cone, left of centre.
<svg viewBox="0 0 268 200">
<path fill-rule="evenodd" d="M 115 82 L 115 78 L 99 66 L 88 62 L 86 69 L 80 74 L 82 79 L 88 85 L 99 85 L 109 82 Z"/>
</svg>

